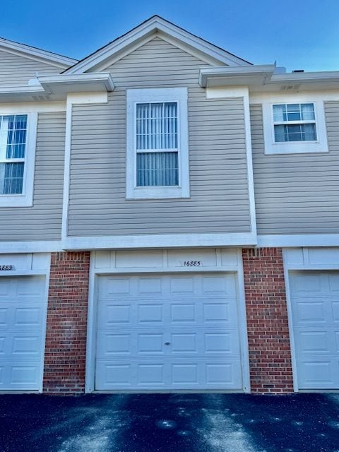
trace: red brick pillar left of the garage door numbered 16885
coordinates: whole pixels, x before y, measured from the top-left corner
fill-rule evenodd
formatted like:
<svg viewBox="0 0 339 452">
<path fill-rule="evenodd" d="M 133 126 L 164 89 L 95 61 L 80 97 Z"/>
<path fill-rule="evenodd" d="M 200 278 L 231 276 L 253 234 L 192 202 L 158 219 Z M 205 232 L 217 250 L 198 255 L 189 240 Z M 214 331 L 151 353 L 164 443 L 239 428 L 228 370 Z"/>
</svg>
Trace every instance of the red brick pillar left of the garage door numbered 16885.
<svg viewBox="0 0 339 452">
<path fill-rule="evenodd" d="M 44 356 L 45 393 L 85 388 L 90 253 L 52 253 Z"/>
</svg>

